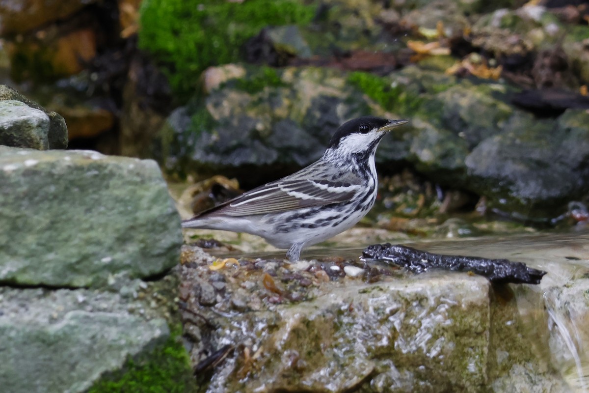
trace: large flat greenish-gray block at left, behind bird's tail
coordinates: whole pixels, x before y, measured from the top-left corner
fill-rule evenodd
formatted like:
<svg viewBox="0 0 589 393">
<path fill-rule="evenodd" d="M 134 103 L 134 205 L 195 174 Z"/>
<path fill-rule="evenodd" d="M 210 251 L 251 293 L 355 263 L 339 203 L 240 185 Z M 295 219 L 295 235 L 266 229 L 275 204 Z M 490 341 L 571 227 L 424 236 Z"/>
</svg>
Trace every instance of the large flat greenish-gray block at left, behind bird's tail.
<svg viewBox="0 0 589 393">
<path fill-rule="evenodd" d="M 180 217 L 151 160 L 0 146 L 0 283 L 89 286 L 178 262 Z"/>
</svg>

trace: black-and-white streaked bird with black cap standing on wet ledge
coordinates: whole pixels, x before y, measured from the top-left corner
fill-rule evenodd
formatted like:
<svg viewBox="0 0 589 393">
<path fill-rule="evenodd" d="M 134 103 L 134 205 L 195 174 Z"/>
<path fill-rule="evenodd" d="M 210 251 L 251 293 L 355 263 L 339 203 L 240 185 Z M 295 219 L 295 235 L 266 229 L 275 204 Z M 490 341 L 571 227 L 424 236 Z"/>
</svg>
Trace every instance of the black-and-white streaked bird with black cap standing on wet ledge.
<svg viewBox="0 0 589 393">
<path fill-rule="evenodd" d="M 372 208 L 376 148 L 405 123 L 374 116 L 346 121 L 319 160 L 183 220 L 182 227 L 257 235 L 288 249 L 286 257 L 296 262 L 303 248 L 349 229 Z"/>
</svg>

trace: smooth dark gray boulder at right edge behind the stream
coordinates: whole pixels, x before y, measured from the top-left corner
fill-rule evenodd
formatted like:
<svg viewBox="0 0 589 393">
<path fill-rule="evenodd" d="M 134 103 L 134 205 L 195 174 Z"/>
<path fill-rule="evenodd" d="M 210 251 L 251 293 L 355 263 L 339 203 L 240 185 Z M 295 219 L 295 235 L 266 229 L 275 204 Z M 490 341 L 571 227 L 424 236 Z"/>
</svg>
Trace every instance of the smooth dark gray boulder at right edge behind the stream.
<svg viewBox="0 0 589 393">
<path fill-rule="evenodd" d="M 469 187 L 504 210 L 534 206 L 532 214 L 557 216 L 589 191 L 587 122 L 583 110 L 567 110 L 556 122 L 512 119 L 508 132 L 485 139 L 466 157 Z"/>
</svg>

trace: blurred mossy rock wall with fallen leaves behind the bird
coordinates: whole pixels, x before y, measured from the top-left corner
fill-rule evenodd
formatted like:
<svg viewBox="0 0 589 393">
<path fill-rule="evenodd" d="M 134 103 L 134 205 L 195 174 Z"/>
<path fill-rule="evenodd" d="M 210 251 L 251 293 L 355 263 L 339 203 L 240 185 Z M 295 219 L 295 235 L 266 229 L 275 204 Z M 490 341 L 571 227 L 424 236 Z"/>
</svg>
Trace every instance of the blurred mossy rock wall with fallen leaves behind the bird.
<svg viewBox="0 0 589 393">
<path fill-rule="evenodd" d="M 69 148 L 244 189 L 349 118 L 409 118 L 379 150 L 384 191 L 406 170 L 442 213 L 575 223 L 588 19 L 574 0 L 2 0 L 0 82 L 61 114 Z"/>
</svg>

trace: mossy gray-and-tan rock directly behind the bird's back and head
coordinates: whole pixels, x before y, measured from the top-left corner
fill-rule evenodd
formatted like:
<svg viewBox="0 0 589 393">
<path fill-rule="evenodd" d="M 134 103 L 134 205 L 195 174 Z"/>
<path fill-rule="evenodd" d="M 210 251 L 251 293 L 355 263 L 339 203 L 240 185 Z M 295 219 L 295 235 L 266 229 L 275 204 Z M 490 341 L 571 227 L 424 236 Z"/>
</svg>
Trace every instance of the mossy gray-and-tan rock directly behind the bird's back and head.
<svg viewBox="0 0 589 393">
<path fill-rule="evenodd" d="M 253 186 L 312 163 L 344 121 L 385 115 L 339 70 L 244 70 L 170 115 L 160 133 L 168 171 L 223 173 Z"/>
</svg>

